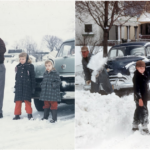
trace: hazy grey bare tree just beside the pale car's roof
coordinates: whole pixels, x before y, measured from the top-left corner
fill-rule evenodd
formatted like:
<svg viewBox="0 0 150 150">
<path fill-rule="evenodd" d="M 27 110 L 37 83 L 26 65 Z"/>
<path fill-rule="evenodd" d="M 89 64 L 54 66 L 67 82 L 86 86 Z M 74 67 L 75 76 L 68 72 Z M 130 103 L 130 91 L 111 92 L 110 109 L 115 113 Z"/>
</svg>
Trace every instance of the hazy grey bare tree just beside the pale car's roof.
<svg viewBox="0 0 150 150">
<path fill-rule="evenodd" d="M 47 44 L 47 48 L 50 50 L 50 51 L 53 51 L 54 48 L 56 50 L 59 49 L 60 45 L 62 44 L 62 39 L 58 38 L 57 36 L 53 36 L 53 35 L 45 35 L 44 38 L 43 38 L 43 41 L 46 42 Z"/>
</svg>

